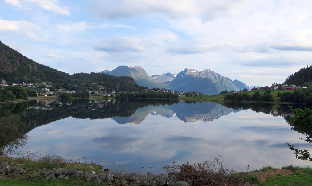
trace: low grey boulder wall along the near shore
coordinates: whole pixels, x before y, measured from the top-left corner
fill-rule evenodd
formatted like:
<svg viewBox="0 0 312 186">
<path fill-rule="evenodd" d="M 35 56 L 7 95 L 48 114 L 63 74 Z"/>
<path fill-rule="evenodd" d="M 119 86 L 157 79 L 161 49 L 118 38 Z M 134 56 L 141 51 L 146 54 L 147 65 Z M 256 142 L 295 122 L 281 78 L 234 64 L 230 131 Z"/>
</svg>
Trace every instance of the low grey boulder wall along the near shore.
<svg viewBox="0 0 312 186">
<path fill-rule="evenodd" d="M 106 169 L 107 170 L 107 169 Z M 109 183 L 114 186 L 188 186 L 188 182 L 177 180 L 175 175 L 159 174 L 154 175 L 152 173 L 147 173 L 145 175 L 131 173 L 113 173 L 109 171 L 104 171 L 104 173 L 95 173 L 92 171 L 88 173 L 82 170 L 74 169 L 22 169 L 20 167 L 11 167 L 8 162 L 2 162 L 0 164 L 0 179 L 7 179 L 13 176 L 29 175 L 34 178 L 37 176 L 42 176 L 47 180 L 55 179 L 82 179 L 85 182 L 94 182 L 96 184 Z"/>
</svg>

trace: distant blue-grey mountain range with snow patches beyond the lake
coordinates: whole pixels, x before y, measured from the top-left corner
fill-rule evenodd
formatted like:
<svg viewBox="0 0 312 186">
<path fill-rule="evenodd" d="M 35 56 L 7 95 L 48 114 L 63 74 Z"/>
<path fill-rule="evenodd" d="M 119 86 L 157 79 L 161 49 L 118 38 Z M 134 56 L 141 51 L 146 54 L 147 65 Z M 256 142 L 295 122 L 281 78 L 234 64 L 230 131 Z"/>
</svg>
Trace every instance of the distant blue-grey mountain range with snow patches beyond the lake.
<svg viewBox="0 0 312 186">
<path fill-rule="evenodd" d="M 103 70 L 100 73 L 115 76 L 129 76 L 142 86 L 148 88 L 166 88 L 174 91 L 197 91 L 204 94 L 218 94 L 222 90 L 243 90 L 250 88 L 241 81 L 231 80 L 212 70 L 197 71 L 184 69 L 178 74 L 166 73 L 149 76 L 140 66 L 118 66 L 114 70 Z"/>
</svg>

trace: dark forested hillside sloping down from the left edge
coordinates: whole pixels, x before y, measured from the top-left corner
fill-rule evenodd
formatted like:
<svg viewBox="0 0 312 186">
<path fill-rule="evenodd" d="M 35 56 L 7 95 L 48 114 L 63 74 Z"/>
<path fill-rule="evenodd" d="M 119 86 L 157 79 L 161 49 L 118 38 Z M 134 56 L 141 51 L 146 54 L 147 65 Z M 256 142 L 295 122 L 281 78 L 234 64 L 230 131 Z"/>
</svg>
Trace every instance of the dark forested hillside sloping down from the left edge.
<svg viewBox="0 0 312 186">
<path fill-rule="evenodd" d="M 52 82 L 64 88 L 75 90 L 77 89 L 76 86 L 84 87 L 91 83 L 102 85 L 104 88 L 125 91 L 144 90 L 145 88 L 139 86 L 134 79 L 127 76 L 116 77 L 99 73 L 77 73 L 70 75 L 28 59 L 16 50 L 4 45 L 1 41 L 0 79 L 5 79 L 9 84 L 20 82 Z"/>
</svg>

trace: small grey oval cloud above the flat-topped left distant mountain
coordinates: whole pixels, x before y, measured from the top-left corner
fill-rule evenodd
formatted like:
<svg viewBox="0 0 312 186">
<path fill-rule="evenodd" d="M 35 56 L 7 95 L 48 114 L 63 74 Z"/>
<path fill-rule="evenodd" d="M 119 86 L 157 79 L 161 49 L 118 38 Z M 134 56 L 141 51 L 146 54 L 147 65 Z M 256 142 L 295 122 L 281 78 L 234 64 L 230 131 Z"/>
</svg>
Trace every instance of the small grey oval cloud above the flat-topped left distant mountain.
<svg viewBox="0 0 312 186">
<path fill-rule="evenodd" d="M 144 42 L 135 37 L 113 37 L 95 44 L 95 50 L 104 52 L 142 52 L 145 49 Z"/>
</svg>

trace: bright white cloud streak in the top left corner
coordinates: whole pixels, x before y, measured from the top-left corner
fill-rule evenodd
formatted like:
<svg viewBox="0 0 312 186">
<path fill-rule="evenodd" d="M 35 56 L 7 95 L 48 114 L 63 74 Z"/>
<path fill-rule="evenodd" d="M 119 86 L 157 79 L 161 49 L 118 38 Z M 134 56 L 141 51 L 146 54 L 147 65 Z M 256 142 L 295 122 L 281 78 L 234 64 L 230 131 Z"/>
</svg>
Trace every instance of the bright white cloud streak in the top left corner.
<svg viewBox="0 0 312 186">
<path fill-rule="evenodd" d="M 55 12 L 65 16 L 71 15 L 71 13 L 69 12 L 69 8 L 58 5 L 57 0 L 22 0 L 22 3 L 18 0 L 5 0 L 5 2 L 17 7 L 25 7 L 29 3 L 31 3 L 51 12 Z"/>
</svg>

